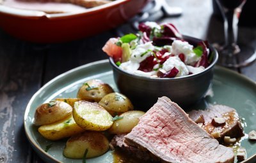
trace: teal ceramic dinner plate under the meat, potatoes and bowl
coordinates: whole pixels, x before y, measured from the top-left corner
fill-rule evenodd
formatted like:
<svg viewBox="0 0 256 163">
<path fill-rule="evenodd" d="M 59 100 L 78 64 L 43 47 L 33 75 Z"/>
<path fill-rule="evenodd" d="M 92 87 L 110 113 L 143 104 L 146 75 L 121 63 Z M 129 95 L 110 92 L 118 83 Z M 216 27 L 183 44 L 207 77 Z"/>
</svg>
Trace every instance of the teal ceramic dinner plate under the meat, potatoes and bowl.
<svg viewBox="0 0 256 163">
<path fill-rule="evenodd" d="M 67 159 L 62 152 L 65 141 L 49 141 L 44 139 L 33 125 L 33 117 L 38 105 L 47 103 L 56 97 L 76 97 L 77 90 L 86 80 L 100 79 L 109 83 L 115 91 L 116 85 L 113 80 L 113 73 L 108 60 L 100 60 L 91 64 L 86 64 L 67 73 L 57 76 L 49 83 L 45 84 L 31 98 L 24 115 L 24 127 L 26 135 L 34 150 L 45 160 L 45 162 L 79 162 L 82 160 Z M 256 129 L 256 83 L 248 80 L 234 71 L 216 66 L 212 91 L 205 97 L 204 104 L 225 104 L 235 108 L 240 117 L 243 117 L 244 132 Z M 246 148 L 248 160 L 246 162 L 256 162 L 256 143 L 248 141 L 248 135 L 244 136 L 241 146 Z M 47 145 L 52 147 L 45 152 Z M 95 159 L 86 160 L 87 163 L 113 162 L 113 155 L 108 153 Z"/>
</svg>

